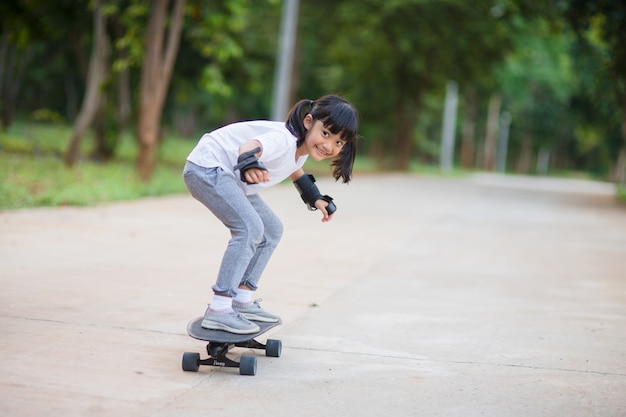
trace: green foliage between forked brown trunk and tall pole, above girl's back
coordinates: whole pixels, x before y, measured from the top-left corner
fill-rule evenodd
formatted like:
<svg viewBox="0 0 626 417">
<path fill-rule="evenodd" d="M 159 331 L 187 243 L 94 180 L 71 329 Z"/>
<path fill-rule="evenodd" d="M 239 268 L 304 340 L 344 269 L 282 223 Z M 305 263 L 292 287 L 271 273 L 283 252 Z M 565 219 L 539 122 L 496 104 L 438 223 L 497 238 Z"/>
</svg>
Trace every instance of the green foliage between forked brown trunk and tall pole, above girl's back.
<svg viewBox="0 0 626 417">
<path fill-rule="evenodd" d="M 266 118 L 280 1 L 196 1 L 176 64 L 172 113 L 185 131 Z"/>
</svg>

